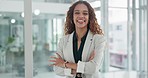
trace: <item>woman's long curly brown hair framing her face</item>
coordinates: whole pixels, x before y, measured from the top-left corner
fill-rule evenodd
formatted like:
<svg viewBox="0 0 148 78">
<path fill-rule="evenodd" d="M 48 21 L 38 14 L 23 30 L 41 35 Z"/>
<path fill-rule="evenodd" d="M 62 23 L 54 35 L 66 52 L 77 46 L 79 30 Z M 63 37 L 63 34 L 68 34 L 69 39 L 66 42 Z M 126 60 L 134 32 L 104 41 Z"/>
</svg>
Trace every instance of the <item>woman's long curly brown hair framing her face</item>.
<svg viewBox="0 0 148 78">
<path fill-rule="evenodd" d="M 89 22 L 88 22 L 88 28 L 93 34 L 102 34 L 102 29 L 100 28 L 100 25 L 97 22 L 97 18 L 94 12 L 94 9 L 91 7 L 91 5 L 87 1 L 77 1 L 75 2 L 68 10 L 67 16 L 66 16 L 66 22 L 64 27 L 64 33 L 65 35 L 71 34 L 73 31 L 75 31 L 75 24 L 73 22 L 73 12 L 78 4 L 84 4 L 88 8 L 89 12 Z"/>
</svg>

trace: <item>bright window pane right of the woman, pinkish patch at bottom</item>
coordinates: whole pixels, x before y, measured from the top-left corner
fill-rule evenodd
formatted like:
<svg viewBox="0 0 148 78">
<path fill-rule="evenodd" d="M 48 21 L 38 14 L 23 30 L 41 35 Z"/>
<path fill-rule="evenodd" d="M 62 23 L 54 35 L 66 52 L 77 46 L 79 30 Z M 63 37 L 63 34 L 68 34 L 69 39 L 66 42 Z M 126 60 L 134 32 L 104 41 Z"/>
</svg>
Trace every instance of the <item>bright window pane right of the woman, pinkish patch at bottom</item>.
<svg viewBox="0 0 148 78">
<path fill-rule="evenodd" d="M 111 67 L 127 68 L 127 9 L 109 8 L 109 53 Z"/>
</svg>

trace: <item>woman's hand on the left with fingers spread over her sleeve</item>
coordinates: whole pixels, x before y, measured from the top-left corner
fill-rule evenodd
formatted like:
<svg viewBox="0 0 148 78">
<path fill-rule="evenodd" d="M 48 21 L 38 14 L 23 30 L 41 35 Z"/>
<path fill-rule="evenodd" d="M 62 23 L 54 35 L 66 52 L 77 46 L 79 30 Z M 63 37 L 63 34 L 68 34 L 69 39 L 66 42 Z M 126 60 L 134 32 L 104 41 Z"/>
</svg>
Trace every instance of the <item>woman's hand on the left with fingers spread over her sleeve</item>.
<svg viewBox="0 0 148 78">
<path fill-rule="evenodd" d="M 55 66 L 59 66 L 59 67 L 64 67 L 64 60 L 62 59 L 62 57 L 56 53 L 57 57 L 55 56 L 51 56 L 51 58 L 53 58 L 53 60 L 49 60 L 50 62 L 53 62 L 52 65 L 55 65 Z"/>
</svg>

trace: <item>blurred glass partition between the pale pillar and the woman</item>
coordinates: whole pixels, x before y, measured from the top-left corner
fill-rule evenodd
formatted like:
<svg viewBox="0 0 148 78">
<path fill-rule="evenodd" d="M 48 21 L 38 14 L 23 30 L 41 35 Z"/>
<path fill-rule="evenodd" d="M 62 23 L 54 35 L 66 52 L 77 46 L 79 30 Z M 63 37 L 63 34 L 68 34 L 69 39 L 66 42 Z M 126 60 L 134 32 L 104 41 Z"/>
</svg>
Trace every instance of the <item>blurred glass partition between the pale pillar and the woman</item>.
<svg viewBox="0 0 148 78">
<path fill-rule="evenodd" d="M 32 4 L 34 78 L 57 78 L 58 76 L 53 72 L 53 66 L 51 66 L 49 60 L 57 51 L 58 41 L 63 36 L 66 14 L 66 10 L 61 13 L 60 9 L 56 7 L 64 8 L 65 5 L 63 3 L 39 2 L 36 0 Z M 41 7 L 36 6 L 36 4 L 40 4 Z M 43 8 L 43 6 L 46 8 Z M 57 11 L 52 13 L 53 9 Z"/>
</svg>

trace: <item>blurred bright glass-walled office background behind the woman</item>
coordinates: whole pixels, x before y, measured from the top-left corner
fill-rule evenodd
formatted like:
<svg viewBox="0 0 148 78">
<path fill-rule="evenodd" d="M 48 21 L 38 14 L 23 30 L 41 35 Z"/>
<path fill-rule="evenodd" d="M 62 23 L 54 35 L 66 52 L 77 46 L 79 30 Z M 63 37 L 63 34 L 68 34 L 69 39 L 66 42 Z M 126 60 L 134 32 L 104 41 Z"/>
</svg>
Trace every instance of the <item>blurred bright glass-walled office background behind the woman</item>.
<svg viewBox="0 0 148 78">
<path fill-rule="evenodd" d="M 77 0 L 32 0 L 31 50 L 25 51 L 26 0 L 0 0 L 0 78 L 64 78 L 49 66 L 63 36 L 69 6 Z M 87 0 L 93 6 L 107 38 L 101 78 L 147 78 L 148 1 Z M 28 10 L 29 12 L 29 10 Z M 28 19 L 29 20 L 29 19 Z M 30 39 L 31 40 L 31 39 Z M 30 46 L 26 46 L 29 48 Z M 32 54 L 31 56 L 25 53 Z M 30 61 L 33 60 L 33 61 Z M 29 77 L 29 76 L 28 76 Z"/>
</svg>

